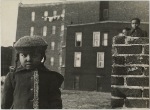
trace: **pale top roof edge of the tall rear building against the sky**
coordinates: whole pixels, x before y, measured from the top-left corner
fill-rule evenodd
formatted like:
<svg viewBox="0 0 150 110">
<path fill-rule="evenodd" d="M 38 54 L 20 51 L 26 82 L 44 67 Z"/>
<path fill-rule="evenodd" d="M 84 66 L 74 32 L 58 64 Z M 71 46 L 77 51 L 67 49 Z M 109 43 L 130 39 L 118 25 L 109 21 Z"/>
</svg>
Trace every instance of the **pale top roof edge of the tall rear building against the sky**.
<svg viewBox="0 0 150 110">
<path fill-rule="evenodd" d="M 88 1 L 58 1 L 58 2 L 39 3 L 39 4 L 19 3 L 19 7 L 42 7 L 42 6 L 54 6 L 54 5 L 60 5 L 60 4 L 72 4 L 72 3 L 81 3 L 81 2 L 88 2 Z"/>
</svg>

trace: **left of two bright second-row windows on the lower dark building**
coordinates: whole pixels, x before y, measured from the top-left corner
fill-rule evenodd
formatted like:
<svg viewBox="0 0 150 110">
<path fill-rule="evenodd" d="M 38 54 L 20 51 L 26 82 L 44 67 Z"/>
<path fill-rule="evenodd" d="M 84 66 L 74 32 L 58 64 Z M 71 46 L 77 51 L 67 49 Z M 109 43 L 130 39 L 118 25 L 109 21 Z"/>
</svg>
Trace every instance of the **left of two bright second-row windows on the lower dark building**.
<svg viewBox="0 0 150 110">
<path fill-rule="evenodd" d="M 74 54 L 74 67 L 81 67 L 81 52 Z"/>
</svg>

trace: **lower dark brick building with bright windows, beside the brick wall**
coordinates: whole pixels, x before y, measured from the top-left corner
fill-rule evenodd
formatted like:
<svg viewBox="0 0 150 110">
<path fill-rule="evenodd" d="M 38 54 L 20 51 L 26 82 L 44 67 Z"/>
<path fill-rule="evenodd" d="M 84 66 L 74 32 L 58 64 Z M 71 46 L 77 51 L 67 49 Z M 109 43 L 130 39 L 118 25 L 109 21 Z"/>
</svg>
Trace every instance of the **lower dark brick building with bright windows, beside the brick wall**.
<svg viewBox="0 0 150 110">
<path fill-rule="evenodd" d="M 65 89 L 111 90 L 112 38 L 127 22 L 103 21 L 68 25 Z M 148 24 L 141 24 L 148 31 Z"/>
</svg>

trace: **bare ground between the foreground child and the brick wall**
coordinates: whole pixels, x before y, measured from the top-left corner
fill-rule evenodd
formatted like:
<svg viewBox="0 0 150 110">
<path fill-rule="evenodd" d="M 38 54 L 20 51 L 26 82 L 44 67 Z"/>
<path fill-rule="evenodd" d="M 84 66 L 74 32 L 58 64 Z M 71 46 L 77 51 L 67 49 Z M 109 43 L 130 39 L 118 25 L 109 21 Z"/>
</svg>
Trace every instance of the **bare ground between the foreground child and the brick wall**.
<svg viewBox="0 0 150 110">
<path fill-rule="evenodd" d="M 111 94 L 96 91 L 62 90 L 64 109 L 110 109 Z"/>
</svg>

